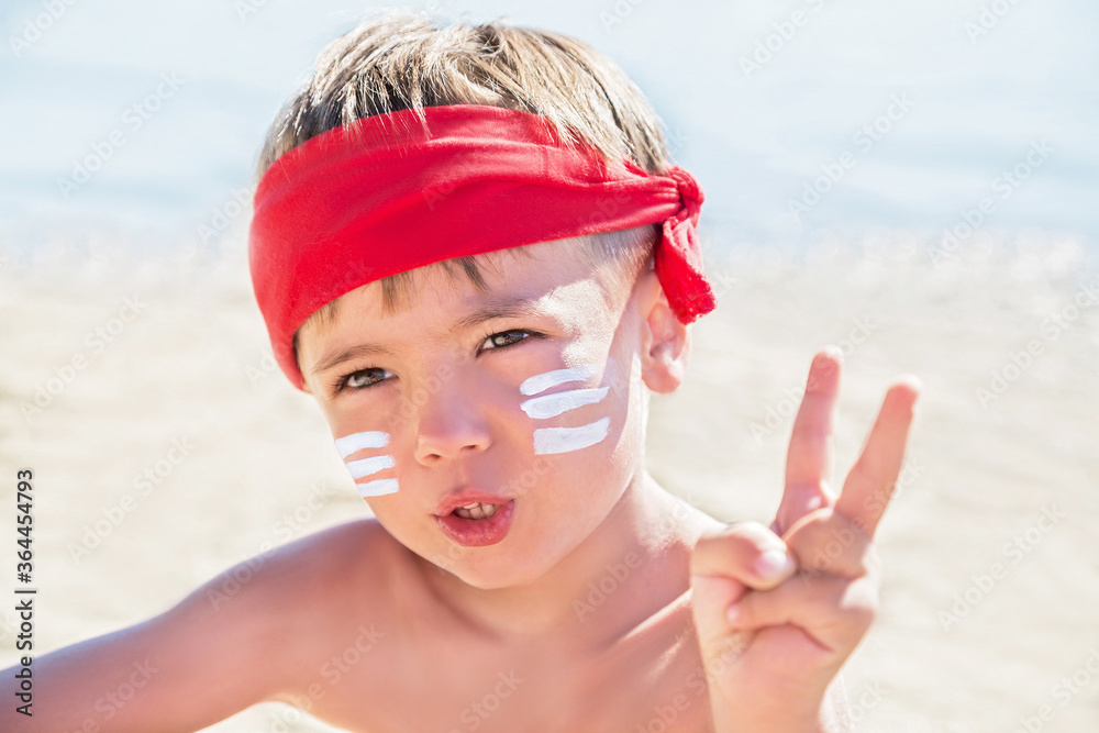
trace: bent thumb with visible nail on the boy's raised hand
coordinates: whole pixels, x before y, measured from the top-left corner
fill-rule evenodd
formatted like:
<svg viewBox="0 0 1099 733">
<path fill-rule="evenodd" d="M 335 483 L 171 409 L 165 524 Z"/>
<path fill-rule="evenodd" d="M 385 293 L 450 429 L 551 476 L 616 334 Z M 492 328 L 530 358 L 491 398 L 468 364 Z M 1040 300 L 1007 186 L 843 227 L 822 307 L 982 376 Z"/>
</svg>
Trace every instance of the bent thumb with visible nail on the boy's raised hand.
<svg viewBox="0 0 1099 733">
<path fill-rule="evenodd" d="M 774 588 L 797 570 L 777 534 L 756 522 L 737 522 L 702 536 L 690 558 L 692 576 L 732 578 L 748 588 Z"/>
</svg>

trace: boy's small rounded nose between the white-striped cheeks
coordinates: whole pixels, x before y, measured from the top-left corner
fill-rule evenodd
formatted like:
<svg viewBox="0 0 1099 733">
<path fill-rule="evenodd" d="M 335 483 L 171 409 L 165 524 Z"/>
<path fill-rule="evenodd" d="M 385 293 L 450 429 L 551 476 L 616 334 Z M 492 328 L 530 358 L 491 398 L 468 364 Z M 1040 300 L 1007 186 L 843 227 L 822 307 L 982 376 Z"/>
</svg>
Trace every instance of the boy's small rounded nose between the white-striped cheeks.
<svg viewBox="0 0 1099 733">
<path fill-rule="evenodd" d="M 414 410 L 415 459 L 426 466 L 487 448 L 491 438 L 478 402 L 475 395 L 456 384 L 422 400 Z"/>
</svg>

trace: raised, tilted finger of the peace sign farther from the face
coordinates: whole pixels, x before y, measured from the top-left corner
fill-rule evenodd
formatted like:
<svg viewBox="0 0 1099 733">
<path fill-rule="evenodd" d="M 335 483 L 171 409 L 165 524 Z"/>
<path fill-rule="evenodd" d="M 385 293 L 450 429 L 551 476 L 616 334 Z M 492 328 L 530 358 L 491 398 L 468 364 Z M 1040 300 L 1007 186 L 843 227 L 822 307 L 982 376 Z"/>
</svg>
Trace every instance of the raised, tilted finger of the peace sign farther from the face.
<svg viewBox="0 0 1099 733">
<path fill-rule="evenodd" d="M 913 376 L 901 377 L 889 388 L 866 445 L 847 474 L 836 501 L 836 512 L 850 519 L 868 537 L 874 537 L 897 488 L 919 396 L 920 380 Z"/>
</svg>

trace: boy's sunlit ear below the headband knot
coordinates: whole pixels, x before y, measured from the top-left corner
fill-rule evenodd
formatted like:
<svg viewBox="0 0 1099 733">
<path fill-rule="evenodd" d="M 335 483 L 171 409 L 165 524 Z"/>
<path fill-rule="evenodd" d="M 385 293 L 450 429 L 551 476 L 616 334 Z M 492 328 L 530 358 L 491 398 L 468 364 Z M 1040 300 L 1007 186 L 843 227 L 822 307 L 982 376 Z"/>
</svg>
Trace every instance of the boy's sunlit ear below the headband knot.
<svg viewBox="0 0 1099 733">
<path fill-rule="evenodd" d="M 640 276 L 635 302 L 641 320 L 641 377 L 654 392 L 675 391 L 687 370 L 690 331 L 671 311 L 656 270 Z"/>
</svg>

